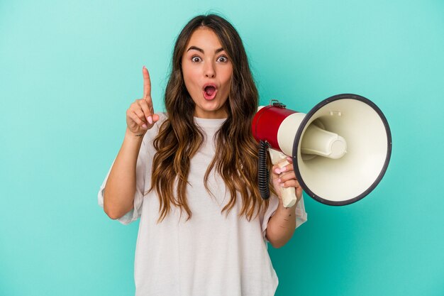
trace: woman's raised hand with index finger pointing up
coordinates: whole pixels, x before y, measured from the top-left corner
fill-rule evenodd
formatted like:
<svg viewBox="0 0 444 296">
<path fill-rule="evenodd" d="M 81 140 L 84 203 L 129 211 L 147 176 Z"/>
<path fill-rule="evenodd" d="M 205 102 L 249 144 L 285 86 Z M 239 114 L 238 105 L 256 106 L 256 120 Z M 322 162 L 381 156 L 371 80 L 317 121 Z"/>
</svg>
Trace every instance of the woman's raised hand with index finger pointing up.
<svg viewBox="0 0 444 296">
<path fill-rule="evenodd" d="M 126 110 L 126 125 L 131 133 L 142 136 L 155 122 L 159 120 L 159 115 L 154 113 L 151 100 L 151 81 L 148 69 L 143 66 L 143 98 L 136 99 Z"/>
</svg>

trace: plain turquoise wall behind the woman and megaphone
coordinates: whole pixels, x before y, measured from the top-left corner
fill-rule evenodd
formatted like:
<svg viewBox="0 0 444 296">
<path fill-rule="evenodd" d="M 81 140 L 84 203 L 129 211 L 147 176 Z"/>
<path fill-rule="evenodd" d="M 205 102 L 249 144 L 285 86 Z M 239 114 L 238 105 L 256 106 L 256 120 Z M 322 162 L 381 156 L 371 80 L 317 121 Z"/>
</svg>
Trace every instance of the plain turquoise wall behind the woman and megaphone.
<svg viewBox="0 0 444 296">
<path fill-rule="evenodd" d="M 371 99 L 392 128 L 384 179 L 270 254 L 277 295 L 444 295 L 444 4 L 421 1 L 0 1 L 0 295 L 133 295 L 138 223 L 96 194 L 125 114 L 199 13 L 238 29 L 262 104 Z"/>
</svg>

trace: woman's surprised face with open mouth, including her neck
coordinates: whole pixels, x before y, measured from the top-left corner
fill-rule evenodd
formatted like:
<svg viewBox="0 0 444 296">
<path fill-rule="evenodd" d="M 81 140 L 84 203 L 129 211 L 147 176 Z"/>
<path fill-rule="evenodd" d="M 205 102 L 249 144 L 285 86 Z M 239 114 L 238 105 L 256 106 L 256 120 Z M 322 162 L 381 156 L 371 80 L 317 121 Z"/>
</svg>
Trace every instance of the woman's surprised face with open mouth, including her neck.
<svg viewBox="0 0 444 296">
<path fill-rule="evenodd" d="M 194 116 L 225 118 L 233 65 L 211 29 L 201 27 L 192 33 L 182 56 L 182 73 L 196 104 Z"/>
</svg>

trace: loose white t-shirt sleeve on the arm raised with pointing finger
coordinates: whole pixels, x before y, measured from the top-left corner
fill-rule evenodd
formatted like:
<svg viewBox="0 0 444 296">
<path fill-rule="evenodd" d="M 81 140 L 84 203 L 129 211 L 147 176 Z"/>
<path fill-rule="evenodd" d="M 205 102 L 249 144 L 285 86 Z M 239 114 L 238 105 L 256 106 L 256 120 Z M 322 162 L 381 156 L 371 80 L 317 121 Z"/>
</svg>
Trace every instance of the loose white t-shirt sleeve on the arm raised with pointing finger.
<svg viewBox="0 0 444 296">
<path fill-rule="evenodd" d="M 143 193 L 145 192 L 145 176 L 147 169 L 147 154 L 148 151 L 146 149 L 145 141 L 142 142 L 142 146 L 140 146 L 139 155 L 137 158 L 137 163 L 135 166 L 135 194 L 134 194 L 134 207 L 130 212 L 118 218 L 122 224 L 130 224 L 131 222 L 137 220 L 140 217 L 140 212 L 142 211 L 142 202 L 143 202 Z M 114 161 L 116 161 L 114 159 Z M 114 164 L 113 161 L 113 164 Z M 113 165 L 111 165 L 111 168 Z M 106 180 L 108 180 L 109 173 L 111 172 L 111 168 L 108 171 L 108 174 L 105 177 L 104 182 L 102 183 L 99 194 L 98 201 L 99 206 L 104 207 L 104 191 Z"/>
</svg>

